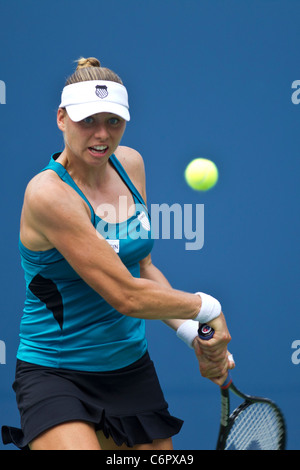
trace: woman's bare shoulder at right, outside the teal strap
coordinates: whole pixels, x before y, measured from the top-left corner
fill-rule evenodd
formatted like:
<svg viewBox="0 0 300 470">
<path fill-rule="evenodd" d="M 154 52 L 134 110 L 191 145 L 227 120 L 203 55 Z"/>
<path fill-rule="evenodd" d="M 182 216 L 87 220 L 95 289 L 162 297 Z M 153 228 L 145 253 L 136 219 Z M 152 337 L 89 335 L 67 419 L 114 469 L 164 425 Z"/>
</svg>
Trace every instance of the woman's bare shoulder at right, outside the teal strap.
<svg viewBox="0 0 300 470">
<path fill-rule="evenodd" d="M 118 147 L 115 155 L 144 200 L 146 200 L 145 165 L 142 155 L 137 150 L 125 146 Z"/>
</svg>

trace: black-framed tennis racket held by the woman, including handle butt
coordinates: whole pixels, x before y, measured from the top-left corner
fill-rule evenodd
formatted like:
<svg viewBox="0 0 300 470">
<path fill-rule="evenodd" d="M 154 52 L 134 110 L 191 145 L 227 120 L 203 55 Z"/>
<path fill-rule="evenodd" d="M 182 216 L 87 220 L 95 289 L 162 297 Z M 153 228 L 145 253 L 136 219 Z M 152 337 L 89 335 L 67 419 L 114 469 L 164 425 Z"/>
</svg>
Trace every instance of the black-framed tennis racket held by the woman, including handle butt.
<svg viewBox="0 0 300 470">
<path fill-rule="evenodd" d="M 209 340 L 214 330 L 199 325 L 199 337 Z M 230 414 L 230 394 L 244 400 Z M 228 373 L 221 386 L 221 423 L 216 450 L 284 450 L 286 426 L 282 412 L 268 398 L 246 395 L 233 384 Z"/>
</svg>

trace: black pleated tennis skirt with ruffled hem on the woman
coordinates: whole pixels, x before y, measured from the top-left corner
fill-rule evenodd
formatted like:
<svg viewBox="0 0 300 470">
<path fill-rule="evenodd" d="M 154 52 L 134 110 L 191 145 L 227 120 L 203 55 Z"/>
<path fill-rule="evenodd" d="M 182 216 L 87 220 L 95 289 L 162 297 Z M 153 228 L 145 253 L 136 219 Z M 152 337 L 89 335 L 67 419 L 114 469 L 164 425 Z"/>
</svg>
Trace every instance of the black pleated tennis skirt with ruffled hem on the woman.
<svg viewBox="0 0 300 470">
<path fill-rule="evenodd" d="M 17 361 L 13 384 L 21 429 L 3 426 L 4 444 L 29 450 L 39 434 L 68 421 L 95 424 L 118 446 L 150 443 L 177 434 L 183 421 L 170 415 L 149 354 L 110 372 L 81 372 Z"/>
</svg>

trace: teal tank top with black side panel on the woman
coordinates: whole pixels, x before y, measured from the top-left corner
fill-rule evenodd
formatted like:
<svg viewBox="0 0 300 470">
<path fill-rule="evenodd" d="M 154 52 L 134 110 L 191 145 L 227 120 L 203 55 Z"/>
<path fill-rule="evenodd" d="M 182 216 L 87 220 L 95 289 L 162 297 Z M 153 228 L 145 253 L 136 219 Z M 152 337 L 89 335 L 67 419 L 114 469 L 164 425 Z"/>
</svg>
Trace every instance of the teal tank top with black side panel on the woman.
<svg viewBox="0 0 300 470">
<path fill-rule="evenodd" d="M 114 249 L 132 276 L 152 250 L 150 215 L 143 198 L 115 155 L 110 162 L 130 189 L 135 213 L 110 224 L 100 219 L 88 199 L 53 154 L 44 170 L 53 170 L 86 201 L 91 223 Z M 44 171 L 42 170 L 42 171 Z M 51 197 L 51 195 L 49 196 Z M 81 371 L 126 367 L 147 350 L 145 321 L 122 315 L 86 284 L 55 249 L 31 251 L 19 240 L 26 300 L 17 358 L 33 364 Z"/>
</svg>

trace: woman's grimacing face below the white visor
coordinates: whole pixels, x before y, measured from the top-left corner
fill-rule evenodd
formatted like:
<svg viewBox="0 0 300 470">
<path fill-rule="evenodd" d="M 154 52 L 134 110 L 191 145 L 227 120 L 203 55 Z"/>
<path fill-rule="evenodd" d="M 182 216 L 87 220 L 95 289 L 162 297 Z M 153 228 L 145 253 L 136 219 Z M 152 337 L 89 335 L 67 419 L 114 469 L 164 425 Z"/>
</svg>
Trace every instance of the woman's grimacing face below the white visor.
<svg viewBox="0 0 300 470">
<path fill-rule="evenodd" d="M 57 113 L 57 125 L 64 133 L 69 156 L 97 165 L 114 153 L 125 131 L 126 121 L 111 113 L 98 113 L 79 122 L 72 121 L 64 109 Z"/>
</svg>

